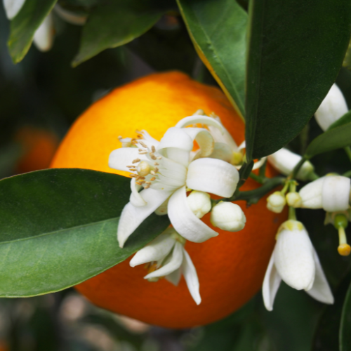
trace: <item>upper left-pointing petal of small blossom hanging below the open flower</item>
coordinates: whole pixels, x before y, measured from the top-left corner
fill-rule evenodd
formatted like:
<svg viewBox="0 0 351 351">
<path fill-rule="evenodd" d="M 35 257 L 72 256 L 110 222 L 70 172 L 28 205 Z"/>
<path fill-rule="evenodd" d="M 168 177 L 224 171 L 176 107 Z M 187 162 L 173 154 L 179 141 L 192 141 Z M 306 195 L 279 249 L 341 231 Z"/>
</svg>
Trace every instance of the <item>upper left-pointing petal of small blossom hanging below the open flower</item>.
<svg viewBox="0 0 351 351">
<path fill-rule="evenodd" d="M 129 265 L 135 267 L 136 265 L 161 260 L 171 252 L 174 244 L 176 244 L 176 240 L 171 237 L 171 234 L 161 234 L 135 253 Z"/>
</svg>

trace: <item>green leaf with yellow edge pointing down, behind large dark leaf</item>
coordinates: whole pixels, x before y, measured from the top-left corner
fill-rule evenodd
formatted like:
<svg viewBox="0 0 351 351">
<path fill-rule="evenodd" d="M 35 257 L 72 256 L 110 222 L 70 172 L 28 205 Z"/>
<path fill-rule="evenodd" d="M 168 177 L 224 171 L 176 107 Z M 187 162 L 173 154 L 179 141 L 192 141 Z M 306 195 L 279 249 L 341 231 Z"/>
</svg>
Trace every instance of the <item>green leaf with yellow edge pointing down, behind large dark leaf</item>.
<svg viewBox="0 0 351 351">
<path fill-rule="evenodd" d="M 234 0 L 177 0 L 201 60 L 243 117 L 246 12 Z"/>
</svg>

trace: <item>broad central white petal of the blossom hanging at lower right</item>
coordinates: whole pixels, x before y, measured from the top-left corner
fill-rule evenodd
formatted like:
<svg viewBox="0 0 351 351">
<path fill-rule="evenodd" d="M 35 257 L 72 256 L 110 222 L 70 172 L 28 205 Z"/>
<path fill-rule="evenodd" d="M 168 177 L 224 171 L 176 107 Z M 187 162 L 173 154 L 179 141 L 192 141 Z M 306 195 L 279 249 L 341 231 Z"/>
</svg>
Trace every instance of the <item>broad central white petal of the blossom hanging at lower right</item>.
<svg viewBox="0 0 351 351">
<path fill-rule="evenodd" d="M 315 274 L 313 247 L 305 228 L 279 232 L 273 256 L 275 267 L 286 284 L 296 290 L 312 287 Z"/>
</svg>

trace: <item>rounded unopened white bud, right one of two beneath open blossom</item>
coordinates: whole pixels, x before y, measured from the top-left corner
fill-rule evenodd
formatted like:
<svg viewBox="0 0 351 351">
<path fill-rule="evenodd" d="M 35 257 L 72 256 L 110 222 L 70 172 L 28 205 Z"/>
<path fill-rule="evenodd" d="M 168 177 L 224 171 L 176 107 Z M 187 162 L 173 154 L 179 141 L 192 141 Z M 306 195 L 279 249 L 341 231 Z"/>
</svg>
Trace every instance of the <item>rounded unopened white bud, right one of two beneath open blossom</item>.
<svg viewBox="0 0 351 351">
<path fill-rule="evenodd" d="M 211 223 L 228 232 L 238 232 L 245 227 L 246 217 L 241 207 L 232 202 L 220 201 L 211 211 Z"/>
</svg>

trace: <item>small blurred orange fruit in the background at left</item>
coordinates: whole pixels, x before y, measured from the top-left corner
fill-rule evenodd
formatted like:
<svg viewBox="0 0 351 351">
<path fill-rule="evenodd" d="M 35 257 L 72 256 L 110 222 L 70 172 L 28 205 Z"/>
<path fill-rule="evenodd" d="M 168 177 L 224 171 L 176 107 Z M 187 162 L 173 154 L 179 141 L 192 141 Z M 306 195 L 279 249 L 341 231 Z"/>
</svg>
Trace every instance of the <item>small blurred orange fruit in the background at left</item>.
<svg viewBox="0 0 351 351">
<path fill-rule="evenodd" d="M 58 137 L 54 133 L 34 126 L 20 128 L 15 140 L 20 143 L 23 152 L 18 160 L 16 173 L 48 168 L 59 145 Z"/>
</svg>

